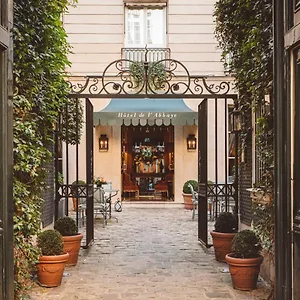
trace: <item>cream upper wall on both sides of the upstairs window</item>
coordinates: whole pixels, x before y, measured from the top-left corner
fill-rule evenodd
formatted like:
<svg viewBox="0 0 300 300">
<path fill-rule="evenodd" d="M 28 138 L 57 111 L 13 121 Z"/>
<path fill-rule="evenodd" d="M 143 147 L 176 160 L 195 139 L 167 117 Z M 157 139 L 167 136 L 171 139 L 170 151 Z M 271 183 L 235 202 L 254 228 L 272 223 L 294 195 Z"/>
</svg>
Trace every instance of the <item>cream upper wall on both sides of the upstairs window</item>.
<svg viewBox="0 0 300 300">
<path fill-rule="evenodd" d="M 214 0 L 169 0 L 166 8 L 167 44 L 171 58 L 181 61 L 190 74 L 223 76 L 214 35 Z M 121 58 L 124 47 L 123 0 L 79 0 L 63 17 L 73 47 L 67 69 L 72 75 L 101 74 Z"/>
</svg>

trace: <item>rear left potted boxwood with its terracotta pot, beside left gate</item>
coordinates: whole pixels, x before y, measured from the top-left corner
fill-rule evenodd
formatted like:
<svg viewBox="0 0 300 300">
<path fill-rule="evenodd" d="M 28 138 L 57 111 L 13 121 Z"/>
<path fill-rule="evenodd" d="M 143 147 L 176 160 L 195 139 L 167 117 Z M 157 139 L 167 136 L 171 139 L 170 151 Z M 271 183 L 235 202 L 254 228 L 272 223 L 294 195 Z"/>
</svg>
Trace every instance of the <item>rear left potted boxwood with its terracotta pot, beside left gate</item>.
<svg viewBox="0 0 300 300">
<path fill-rule="evenodd" d="M 75 266 L 78 261 L 78 255 L 83 238 L 82 233 L 78 232 L 78 227 L 74 219 L 62 217 L 55 221 L 54 229 L 61 235 L 64 243 L 64 251 L 69 253 L 67 261 L 68 266 Z"/>
</svg>

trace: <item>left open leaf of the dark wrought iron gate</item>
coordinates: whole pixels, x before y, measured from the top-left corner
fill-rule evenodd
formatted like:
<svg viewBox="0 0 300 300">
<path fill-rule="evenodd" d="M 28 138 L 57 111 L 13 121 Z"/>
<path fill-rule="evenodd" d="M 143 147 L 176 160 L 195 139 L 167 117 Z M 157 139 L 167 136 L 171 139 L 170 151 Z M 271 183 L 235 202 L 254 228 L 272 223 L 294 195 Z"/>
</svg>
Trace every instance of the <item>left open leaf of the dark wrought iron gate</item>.
<svg viewBox="0 0 300 300">
<path fill-rule="evenodd" d="M 85 99 L 84 124 L 86 140 L 84 144 L 84 141 L 80 139 L 80 126 L 78 123 L 78 116 L 81 113 L 79 101 L 81 100 L 76 98 L 70 99 L 70 101 L 75 103 L 72 110 L 75 124 L 72 124 L 72 121 L 69 120 L 71 105 L 66 105 L 65 111 L 60 116 L 55 137 L 55 219 L 63 215 L 72 215 L 76 219 L 80 231 L 85 230 L 85 232 L 83 232 L 85 239 L 82 246 L 87 248 L 94 240 L 93 105 L 89 99 Z M 72 136 L 69 134 L 71 126 L 75 129 L 75 135 L 73 134 Z M 79 164 L 79 157 L 82 156 L 82 152 L 79 149 L 79 141 L 85 150 L 83 151 L 85 152 L 85 169 L 84 166 L 82 166 L 82 160 Z M 73 150 L 75 147 L 75 151 L 71 152 L 70 149 L 72 149 L 72 147 Z M 75 154 L 75 157 L 72 156 L 72 153 Z M 73 169 L 72 172 L 70 170 L 71 166 Z M 62 174 L 64 174 L 64 178 L 61 177 Z M 70 182 L 71 175 L 73 175 L 73 179 L 75 178 L 73 182 Z M 73 209 L 69 208 L 70 198 L 73 200 Z"/>
</svg>

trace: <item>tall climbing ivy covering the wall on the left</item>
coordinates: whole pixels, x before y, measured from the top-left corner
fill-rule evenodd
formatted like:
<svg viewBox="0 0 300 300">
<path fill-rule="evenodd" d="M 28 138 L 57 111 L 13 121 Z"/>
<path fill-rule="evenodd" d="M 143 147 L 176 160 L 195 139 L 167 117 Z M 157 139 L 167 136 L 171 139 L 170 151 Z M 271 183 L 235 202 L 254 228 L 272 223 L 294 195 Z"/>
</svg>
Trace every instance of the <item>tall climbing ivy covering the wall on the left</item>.
<svg viewBox="0 0 300 300">
<path fill-rule="evenodd" d="M 48 149 L 68 94 L 64 77 L 70 47 L 61 17 L 70 4 L 14 1 L 15 299 L 24 299 L 39 254 L 33 237 L 41 226 L 45 165 L 53 158 Z"/>
</svg>

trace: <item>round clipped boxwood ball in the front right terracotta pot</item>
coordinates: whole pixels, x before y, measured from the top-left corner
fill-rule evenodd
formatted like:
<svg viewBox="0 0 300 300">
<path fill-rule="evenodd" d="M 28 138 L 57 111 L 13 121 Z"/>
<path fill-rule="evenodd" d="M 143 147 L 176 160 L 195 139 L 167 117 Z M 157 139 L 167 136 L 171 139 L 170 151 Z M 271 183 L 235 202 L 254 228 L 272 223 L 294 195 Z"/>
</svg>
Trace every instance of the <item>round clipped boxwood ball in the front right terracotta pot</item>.
<svg viewBox="0 0 300 300">
<path fill-rule="evenodd" d="M 232 252 L 237 258 L 257 257 L 262 249 L 260 239 L 252 230 L 238 232 L 232 240 Z"/>
</svg>

